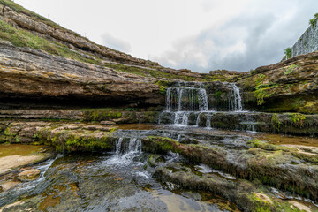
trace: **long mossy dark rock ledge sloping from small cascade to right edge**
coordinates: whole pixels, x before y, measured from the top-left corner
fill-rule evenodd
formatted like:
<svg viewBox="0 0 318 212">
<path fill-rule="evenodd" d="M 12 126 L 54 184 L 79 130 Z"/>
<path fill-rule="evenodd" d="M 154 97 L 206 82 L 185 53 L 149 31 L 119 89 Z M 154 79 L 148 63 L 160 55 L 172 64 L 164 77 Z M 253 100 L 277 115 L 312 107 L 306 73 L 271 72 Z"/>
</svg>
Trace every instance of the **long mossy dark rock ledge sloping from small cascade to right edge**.
<svg viewBox="0 0 318 212">
<path fill-rule="evenodd" d="M 167 154 L 172 151 L 183 155 L 192 163 L 204 163 L 216 170 L 225 170 L 234 177 L 259 179 L 262 183 L 317 200 L 318 167 L 299 162 L 293 155 L 293 148 L 256 145 L 251 150 L 231 150 L 222 147 L 208 147 L 181 144 L 176 140 L 161 137 L 142 139 L 146 152 Z M 265 148 L 265 149 L 261 149 Z"/>
</svg>

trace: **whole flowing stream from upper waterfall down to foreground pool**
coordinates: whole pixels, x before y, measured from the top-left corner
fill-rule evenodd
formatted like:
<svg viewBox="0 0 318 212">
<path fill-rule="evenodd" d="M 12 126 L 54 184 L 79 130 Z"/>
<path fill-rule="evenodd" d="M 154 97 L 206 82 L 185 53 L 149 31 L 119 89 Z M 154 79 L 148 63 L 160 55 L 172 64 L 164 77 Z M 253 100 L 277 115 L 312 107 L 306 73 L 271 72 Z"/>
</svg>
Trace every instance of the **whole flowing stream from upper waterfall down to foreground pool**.
<svg viewBox="0 0 318 212">
<path fill-rule="evenodd" d="M 0 208 L 18 202 L 4 211 L 239 211 L 220 196 L 209 193 L 207 197 L 153 178 L 155 168 L 148 165 L 151 156 L 172 170 L 178 164 L 191 165 L 183 156 L 142 152 L 144 137 L 162 136 L 180 143 L 222 148 L 228 158 L 239 158 L 242 149 L 250 148 L 246 142 L 253 140 L 251 133 L 256 132 L 257 123 L 254 113 L 243 110 L 239 87 L 232 83 L 224 86 L 229 90 L 228 105 L 221 111 L 212 110 L 216 107 L 204 83 L 179 83 L 168 88 L 166 110 L 159 124 L 170 125 L 118 125 L 112 152 L 60 155 L 39 164 L 35 168 L 42 171 L 41 178 L 0 193 Z M 218 113 L 242 116 L 239 125 L 250 133 L 217 131 L 213 126 Z M 205 164 L 192 165 L 197 174 L 237 180 Z"/>
</svg>

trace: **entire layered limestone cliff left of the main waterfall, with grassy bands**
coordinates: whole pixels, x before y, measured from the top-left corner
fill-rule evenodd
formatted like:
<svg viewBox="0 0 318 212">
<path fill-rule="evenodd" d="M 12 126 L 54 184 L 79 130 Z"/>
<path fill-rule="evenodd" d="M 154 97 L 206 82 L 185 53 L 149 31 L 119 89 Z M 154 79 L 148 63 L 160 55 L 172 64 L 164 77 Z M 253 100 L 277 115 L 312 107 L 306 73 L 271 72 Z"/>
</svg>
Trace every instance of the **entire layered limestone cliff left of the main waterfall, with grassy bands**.
<svg viewBox="0 0 318 212">
<path fill-rule="evenodd" d="M 9 0 L 0 29 L 4 108 L 162 105 L 156 80 L 201 78 L 97 45 Z"/>
</svg>

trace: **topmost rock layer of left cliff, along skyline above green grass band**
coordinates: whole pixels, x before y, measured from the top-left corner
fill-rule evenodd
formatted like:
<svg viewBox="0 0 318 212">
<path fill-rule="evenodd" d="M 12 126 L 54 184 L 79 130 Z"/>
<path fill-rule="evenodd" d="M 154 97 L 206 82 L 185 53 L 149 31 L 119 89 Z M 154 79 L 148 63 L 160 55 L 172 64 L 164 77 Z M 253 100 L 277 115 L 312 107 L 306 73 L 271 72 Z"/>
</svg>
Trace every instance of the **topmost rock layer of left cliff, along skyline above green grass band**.
<svg viewBox="0 0 318 212">
<path fill-rule="evenodd" d="M 19 12 L 19 5 L 14 5 L 10 1 L 3 1 L 3 4 L 0 4 L 1 19 L 10 22 L 13 26 L 33 31 L 35 34 L 44 36 L 49 40 L 67 43 L 72 49 L 83 49 L 84 51 L 99 55 L 108 61 L 124 64 L 159 66 L 157 63 L 135 58 L 123 52 L 97 45 L 79 36 L 79 34 L 57 26 L 57 24 L 49 21 L 49 19 L 40 17 L 33 12 L 27 10 Z"/>
</svg>

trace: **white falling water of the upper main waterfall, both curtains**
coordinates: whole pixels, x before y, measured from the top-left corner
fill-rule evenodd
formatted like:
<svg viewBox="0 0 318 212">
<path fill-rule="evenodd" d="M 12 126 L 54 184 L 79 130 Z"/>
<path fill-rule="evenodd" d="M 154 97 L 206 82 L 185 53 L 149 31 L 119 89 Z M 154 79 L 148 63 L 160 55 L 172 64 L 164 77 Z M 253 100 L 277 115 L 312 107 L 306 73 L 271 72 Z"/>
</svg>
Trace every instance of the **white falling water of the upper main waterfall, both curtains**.
<svg viewBox="0 0 318 212">
<path fill-rule="evenodd" d="M 240 112 L 243 110 L 242 99 L 239 93 L 239 87 L 234 83 L 223 83 L 223 87 L 228 90 L 228 110 Z M 169 87 L 166 91 L 166 110 L 163 113 L 169 113 L 173 125 L 186 126 L 189 125 L 189 118 L 194 116 L 195 125 L 199 126 L 201 117 L 206 118 L 206 127 L 211 127 L 211 117 L 215 110 L 209 110 L 214 102 L 208 102 L 208 94 L 203 83 L 178 83 L 175 87 Z M 201 116 L 201 114 L 204 114 Z M 163 114 L 160 115 L 159 123 L 162 122 Z M 194 124 L 193 124 L 194 125 Z"/>
</svg>

